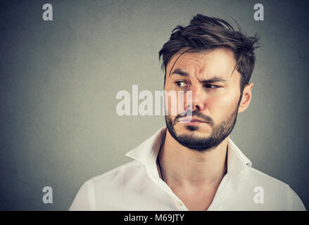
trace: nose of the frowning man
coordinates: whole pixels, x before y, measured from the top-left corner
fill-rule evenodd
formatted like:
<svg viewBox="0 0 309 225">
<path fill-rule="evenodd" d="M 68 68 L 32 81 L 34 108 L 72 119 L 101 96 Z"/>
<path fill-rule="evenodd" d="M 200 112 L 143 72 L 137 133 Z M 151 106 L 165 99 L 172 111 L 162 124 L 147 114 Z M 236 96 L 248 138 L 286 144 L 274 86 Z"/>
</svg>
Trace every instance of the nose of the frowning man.
<svg viewBox="0 0 309 225">
<path fill-rule="evenodd" d="M 187 110 L 202 111 L 206 107 L 206 93 L 202 86 L 192 86 L 191 96 L 189 96 L 189 99 L 190 100 L 187 101 Z"/>
</svg>

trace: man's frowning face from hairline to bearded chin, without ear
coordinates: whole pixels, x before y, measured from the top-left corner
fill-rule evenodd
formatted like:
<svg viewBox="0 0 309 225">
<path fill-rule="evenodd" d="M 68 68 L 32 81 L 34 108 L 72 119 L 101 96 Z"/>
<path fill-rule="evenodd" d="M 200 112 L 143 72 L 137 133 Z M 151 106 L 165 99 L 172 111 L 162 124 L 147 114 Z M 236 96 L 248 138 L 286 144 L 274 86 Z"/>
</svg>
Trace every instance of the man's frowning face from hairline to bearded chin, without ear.
<svg viewBox="0 0 309 225">
<path fill-rule="evenodd" d="M 229 136 L 237 120 L 241 75 L 234 70 L 236 61 L 232 51 L 227 49 L 184 53 L 175 63 L 178 56 L 168 63 L 165 91 L 184 91 L 184 95 L 177 94 L 177 98 L 184 98 L 184 111 L 177 110 L 176 115 L 171 113 L 172 98 L 165 98 L 168 131 L 182 146 L 210 150 Z M 190 91 L 191 103 L 187 102 Z M 189 110 L 192 120 L 180 115 Z"/>
</svg>

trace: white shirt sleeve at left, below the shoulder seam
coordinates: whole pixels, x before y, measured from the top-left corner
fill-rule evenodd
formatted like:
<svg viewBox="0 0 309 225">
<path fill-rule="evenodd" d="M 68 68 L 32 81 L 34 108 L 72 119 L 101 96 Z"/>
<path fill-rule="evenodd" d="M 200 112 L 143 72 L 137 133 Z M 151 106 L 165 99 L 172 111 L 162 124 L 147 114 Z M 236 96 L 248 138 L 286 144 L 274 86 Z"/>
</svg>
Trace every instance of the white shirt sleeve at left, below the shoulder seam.
<svg viewBox="0 0 309 225">
<path fill-rule="evenodd" d="M 93 211 L 96 210 L 93 181 L 85 182 L 78 191 L 69 211 Z"/>
</svg>

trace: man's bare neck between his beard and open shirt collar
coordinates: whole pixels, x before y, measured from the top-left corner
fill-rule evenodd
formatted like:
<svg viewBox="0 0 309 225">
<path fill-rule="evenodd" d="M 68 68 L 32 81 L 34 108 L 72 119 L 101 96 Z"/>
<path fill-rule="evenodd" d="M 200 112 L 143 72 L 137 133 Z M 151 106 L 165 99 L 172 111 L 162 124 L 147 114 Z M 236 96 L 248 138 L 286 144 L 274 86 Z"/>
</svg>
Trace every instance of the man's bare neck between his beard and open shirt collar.
<svg viewBox="0 0 309 225">
<path fill-rule="evenodd" d="M 164 181 L 169 186 L 218 186 L 227 171 L 227 142 L 198 152 L 180 145 L 166 130 L 158 160 Z"/>
</svg>

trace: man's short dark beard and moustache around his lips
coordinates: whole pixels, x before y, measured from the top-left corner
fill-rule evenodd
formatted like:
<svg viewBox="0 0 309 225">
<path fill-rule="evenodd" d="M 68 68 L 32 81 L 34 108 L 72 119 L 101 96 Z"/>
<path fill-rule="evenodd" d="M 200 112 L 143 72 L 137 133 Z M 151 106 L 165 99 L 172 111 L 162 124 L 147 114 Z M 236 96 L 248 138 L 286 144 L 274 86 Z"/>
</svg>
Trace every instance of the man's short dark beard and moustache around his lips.
<svg viewBox="0 0 309 225">
<path fill-rule="evenodd" d="M 172 120 L 172 118 L 170 118 L 168 115 L 165 115 L 166 126 L 168 127 L 168 131 L 170 132 L 172 137 L 182 146 L 190 148 L 191 150 L 197 150 L 199 152 L 211 150 L 212 148 L 217 147 L 223 140 L 225 140 L 234 129 L 237 121 L 239 103 L 237 104 L 237 107 L 233 111 L 232 115 L 227 117 L 227 119 L 220 124 L 215 124 L 211 117 L 203 115 L 198 110 L 194 110 L 191 112 L 192 117 L 196 116 L 198 118 L 201 118 L 203 121 L 207 122 L 210 127 L 212 127 L 212 132 L 208 137 L 197 136 L 196 134 L 194 134 L 194 131 L 198 130 L 199 127 L 192 125 L 184 125 L 188 131 L 191 131 L 189 132 L 189 134 L 177 135 L 175 131 L 175 124 L 177 124 L 177 120 L 179 118 L 185 117 L 185 115 L 177 115 L 174 120 Z"/>
</svg>

